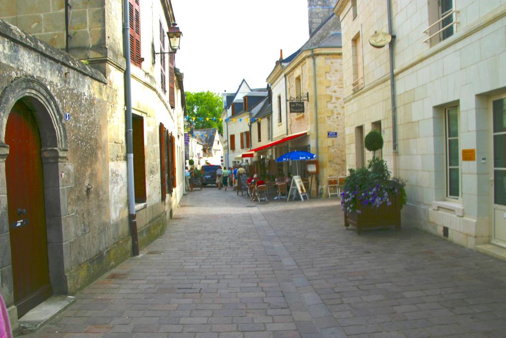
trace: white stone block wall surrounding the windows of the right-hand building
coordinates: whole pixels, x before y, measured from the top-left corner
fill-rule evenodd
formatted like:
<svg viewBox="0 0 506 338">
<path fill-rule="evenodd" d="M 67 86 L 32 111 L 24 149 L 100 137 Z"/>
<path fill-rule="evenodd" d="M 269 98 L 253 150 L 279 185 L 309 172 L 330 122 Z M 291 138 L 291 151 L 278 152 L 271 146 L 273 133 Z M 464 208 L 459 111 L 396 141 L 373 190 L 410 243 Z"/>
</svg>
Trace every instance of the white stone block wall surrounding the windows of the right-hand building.
<svg viewBox="0 0 506 338">
<path fill-rule="evenodd" d="M 372 122 L 381 120 L 384 159 L 407 184 L 404 224 L 438 236 L 447 227 L 451 241 L 470 248 L 488 243 L 492 227 L 490 100 L 506 94 L 506 2 L 455 1 L 455 32 L 432 47 L 423 42 L 428 37 L 423 33 L 429 26 L 427 1 L 393 2 L 397 154 L 392 152 L 387 47 L 363 45 L 364 88 L 351 92 L 351 39 L 360 29 L 366 42 L 374 29 L 386 27 L 383 3 L 358 2 L 355 20 L 349 3 L 339 13 L 347 88 L 347 167 L 355 166 L 355 127 L 364 125 L 365 135 Z M 377 12 L 371 16 L 373 10 Z M 375 27 L 370 23 L 374 21 Z M 374 60 L 387 63 L 377 61 L 374 66 Z M 461 198 L 451 200 L 446 198 L 444 109 L 455 105 L 459 107 L 459 149 L 476 149 L 477 161 L 461 161 Z M 482 158 L 488 160 L 482 163 Z M 434 202 L 439 203 L 439 207 L 434 204 L 438 210 L 433 209 Z M 462 217 L 457 215 L 460 211 Z"/>
</svg>

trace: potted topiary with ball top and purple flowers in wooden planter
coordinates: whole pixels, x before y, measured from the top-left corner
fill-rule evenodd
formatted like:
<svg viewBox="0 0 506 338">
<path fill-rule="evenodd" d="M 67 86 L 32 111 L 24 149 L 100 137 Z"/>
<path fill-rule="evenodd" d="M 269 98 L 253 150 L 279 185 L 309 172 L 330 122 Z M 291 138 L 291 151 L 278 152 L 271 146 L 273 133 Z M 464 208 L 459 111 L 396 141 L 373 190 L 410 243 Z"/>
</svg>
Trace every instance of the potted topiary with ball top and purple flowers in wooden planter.
<svg viewBox="0 0 506 338">
<path fill-rule="evenodd" d="M 370 143 L 376 146 L 369 146 L 376 152 L 381 149 L 377 145 L 383 144 L 383 138 L 379 142 L 376 135 L 372 137 L 375 139 Z M 341 193 L 345 227 L 356 227 L 359 235 L 366 228 L 395 226 L 400 230 L 401 209 L 406 204 L 404 186 L 402 180 L 390 177 L 387 163 L 377 157 L 368 161 L 365 168 L 350 169 Z"/>
</svg>

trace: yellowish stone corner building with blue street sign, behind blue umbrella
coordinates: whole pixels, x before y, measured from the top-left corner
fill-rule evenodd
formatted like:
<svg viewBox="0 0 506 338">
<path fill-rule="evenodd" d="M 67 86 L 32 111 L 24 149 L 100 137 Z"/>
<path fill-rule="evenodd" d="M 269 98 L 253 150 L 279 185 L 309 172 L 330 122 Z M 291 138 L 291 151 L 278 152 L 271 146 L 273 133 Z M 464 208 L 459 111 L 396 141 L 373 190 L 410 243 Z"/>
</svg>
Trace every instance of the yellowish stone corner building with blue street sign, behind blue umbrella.
<svg viewBox="0 0 506 338">
<path fill-rule="evenodd" d="M 288 100 L 288 151 L 317 155 L 318 185 L 314 192 L 324 196 L 327 177 L 345 174 L 343 105 L 343 61 L 339 17 L 331 15 L 319 26 L 300 51 L 283 68 Z M 303 112 L 293 112 L 293 103 Z M 301 135 L 302 134 L 302 135 Z M 299 166 L 299 168 L 296 168 Z M 304 172 L 304 162 L 292 162 L 290 172 Z"/>
</svg>

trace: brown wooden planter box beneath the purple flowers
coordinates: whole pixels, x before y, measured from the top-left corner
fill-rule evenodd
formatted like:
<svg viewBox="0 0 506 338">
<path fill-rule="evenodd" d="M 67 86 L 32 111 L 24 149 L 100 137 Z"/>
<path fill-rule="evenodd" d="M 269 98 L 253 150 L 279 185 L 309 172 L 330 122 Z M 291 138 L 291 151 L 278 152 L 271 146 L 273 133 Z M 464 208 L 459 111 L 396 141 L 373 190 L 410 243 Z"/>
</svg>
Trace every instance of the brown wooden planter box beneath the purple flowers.
<svg viewBox="0 0 506 338">
<path fill-rule="evenodd" d="M 389 196 L 391 205 L 387 203 L 382 204 L 379 207 L 374 206 L 363 206 L 359 200 L 357 200 L 357 210 L 346 214 L 345 212 L 345 227 L 349 226 L 357 227 L 357 233 L 360 235 L 362 229 L 368 228 L 381 228 L 394 226 L 396 230 L 401 230 L 401 198 L 400 195 Z"/>
</svg>

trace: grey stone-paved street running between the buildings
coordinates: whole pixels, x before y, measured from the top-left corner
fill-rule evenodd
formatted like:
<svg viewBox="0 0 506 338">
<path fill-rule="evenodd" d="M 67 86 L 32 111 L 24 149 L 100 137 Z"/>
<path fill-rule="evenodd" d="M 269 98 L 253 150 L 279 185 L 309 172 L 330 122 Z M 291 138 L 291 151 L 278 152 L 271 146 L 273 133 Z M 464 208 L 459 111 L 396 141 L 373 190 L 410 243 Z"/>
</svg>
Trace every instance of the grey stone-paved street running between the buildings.
<svg viewBox="0 0 506 338">
<path fill-rule="evenodd" d="M 506 262 L 403 229 L 345 230 L 337 199 L 188 194 L 141 256 L 35 337 L 504 337 Z"/>
</svg>

